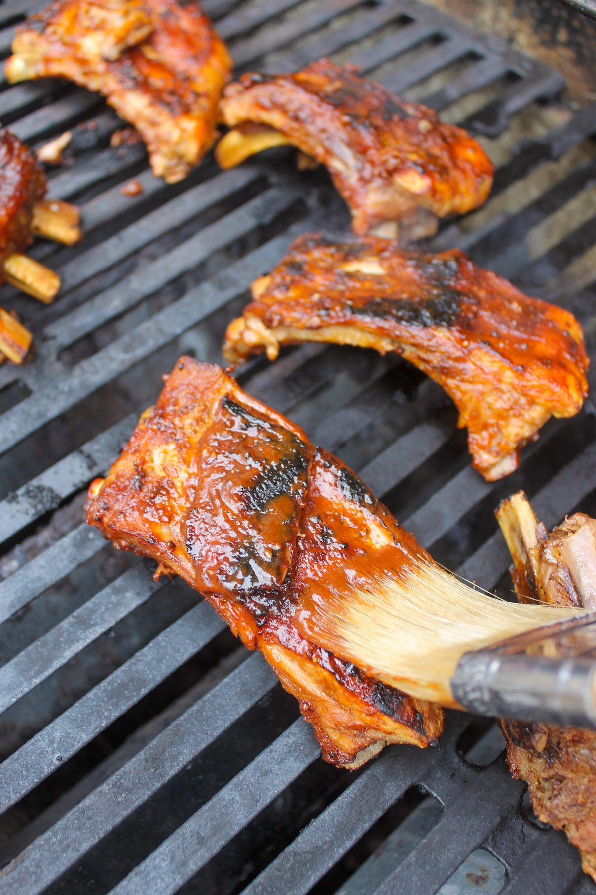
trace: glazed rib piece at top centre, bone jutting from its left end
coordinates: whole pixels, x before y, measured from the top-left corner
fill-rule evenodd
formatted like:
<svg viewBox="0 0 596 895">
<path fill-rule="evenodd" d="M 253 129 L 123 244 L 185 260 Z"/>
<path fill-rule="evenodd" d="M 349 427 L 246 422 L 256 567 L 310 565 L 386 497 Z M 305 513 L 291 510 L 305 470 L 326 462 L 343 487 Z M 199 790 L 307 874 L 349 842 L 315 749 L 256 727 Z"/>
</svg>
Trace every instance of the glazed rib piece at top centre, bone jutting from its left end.
<svg viewBox="0 0 596 895">
<path fill-rule="evenodd" d="M 290 143 L 329 168 L 357 234 L 429 235 L 437 216 L 475 209 L 491 191 L 478 141 L 353 65 L 319 59 L 294 73 L 244 74 L 224 90 L 221 111 L 233 128 L 215 149 L 222 167 Z"/>
</svg>

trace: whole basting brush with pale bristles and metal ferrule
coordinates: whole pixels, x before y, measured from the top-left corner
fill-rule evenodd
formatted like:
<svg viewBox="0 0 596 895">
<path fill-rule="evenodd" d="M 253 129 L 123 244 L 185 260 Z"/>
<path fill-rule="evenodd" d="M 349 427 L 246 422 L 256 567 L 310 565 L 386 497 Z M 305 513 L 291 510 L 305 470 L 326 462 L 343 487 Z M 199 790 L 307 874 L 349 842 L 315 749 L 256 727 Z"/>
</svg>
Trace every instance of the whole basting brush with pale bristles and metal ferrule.
<svg viewBox="0 0 596 895">
<path fill-rule="evenodd" d="M 596 612 L 510 603 L 424 558 L 314 601 L 308 637 L 409 695 L 596 728 Z"/>
</svg>

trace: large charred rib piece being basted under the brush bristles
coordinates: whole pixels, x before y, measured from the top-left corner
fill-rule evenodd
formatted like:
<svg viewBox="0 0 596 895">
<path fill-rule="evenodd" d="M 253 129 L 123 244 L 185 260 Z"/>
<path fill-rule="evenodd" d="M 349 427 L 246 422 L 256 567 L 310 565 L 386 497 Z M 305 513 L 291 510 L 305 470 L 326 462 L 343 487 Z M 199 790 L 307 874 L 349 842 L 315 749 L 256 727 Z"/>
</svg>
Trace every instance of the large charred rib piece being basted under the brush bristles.
<svg viewBox="0 0 596 895">
<path fill-rule="evenodd" d="M 264 654 L 327 761 L 357 767 L 388 743 L 439 737 L 441 708 L 366 678 L 300 630 L 326 588 L 424 551 L 354 473 L 219 368 L 180 359 L 89 489 L 87 518 L 117 548 L 181 575 Z"/>
</svg>

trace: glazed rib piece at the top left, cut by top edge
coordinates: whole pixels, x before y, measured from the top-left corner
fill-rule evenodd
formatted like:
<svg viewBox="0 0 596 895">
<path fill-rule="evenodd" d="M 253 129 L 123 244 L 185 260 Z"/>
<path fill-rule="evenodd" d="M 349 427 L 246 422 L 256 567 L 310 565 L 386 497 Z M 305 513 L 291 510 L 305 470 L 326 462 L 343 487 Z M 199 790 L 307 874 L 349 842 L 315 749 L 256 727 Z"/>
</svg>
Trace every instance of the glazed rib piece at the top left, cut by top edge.
<svg viewBox="0 0 596 895">
<path fill-rule="evenodd" d="M 56 0 L 16 30 L 8 81 L 59 76 L 102 93 L 177 183 L 215 137 L 231 58 L 190 0 Z"/>
</svg>

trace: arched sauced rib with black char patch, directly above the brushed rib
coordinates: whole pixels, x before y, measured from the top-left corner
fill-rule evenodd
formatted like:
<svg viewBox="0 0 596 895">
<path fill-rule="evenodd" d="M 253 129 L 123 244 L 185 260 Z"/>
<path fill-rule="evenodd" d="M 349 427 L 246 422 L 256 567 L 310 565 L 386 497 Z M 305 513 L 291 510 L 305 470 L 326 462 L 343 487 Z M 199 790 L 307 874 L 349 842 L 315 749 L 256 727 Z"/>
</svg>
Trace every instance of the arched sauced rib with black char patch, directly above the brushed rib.
<svg viewBox="0 0 596 895">
<path fill-rule="evenodd" d="M 467 427 L 475 468 L 513 472 L 550 416 L 587 394 L 582 329 L 568 311 L 529 298 L 457 249 L 404 251 L 377 236 L 307 234 L 226 332 L 233 362 L 281 343 L 337 342 L 396 351 L 439 382 Z"/>
</svg>

